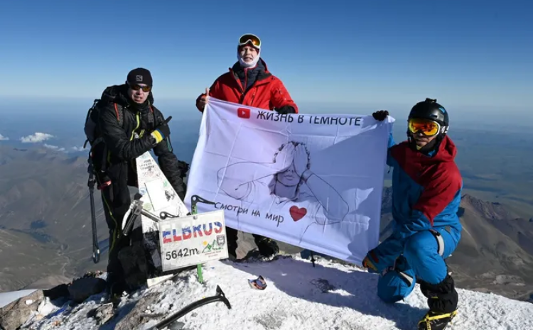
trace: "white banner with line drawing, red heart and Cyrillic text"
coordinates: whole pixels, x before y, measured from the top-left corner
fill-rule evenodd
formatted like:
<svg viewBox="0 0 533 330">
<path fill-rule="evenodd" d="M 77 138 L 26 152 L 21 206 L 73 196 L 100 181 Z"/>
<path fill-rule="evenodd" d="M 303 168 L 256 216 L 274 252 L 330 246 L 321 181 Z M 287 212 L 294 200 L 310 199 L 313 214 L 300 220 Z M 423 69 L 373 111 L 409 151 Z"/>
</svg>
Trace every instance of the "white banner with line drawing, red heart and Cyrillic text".
<svg viewBox="0 0 533 330">
<path fill-rule="evenodd" d="M 210 98 L 188 178 L 230 228 L 360 264 L 377 246 L 394 119 L 280 115 Z"/>
</svg>

